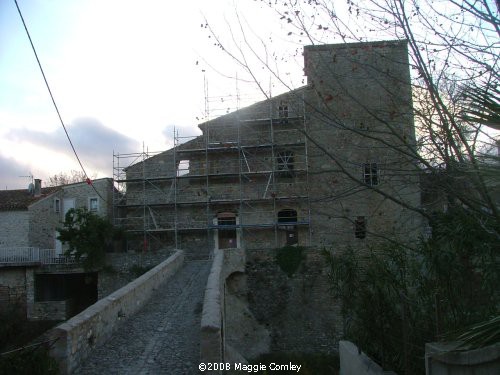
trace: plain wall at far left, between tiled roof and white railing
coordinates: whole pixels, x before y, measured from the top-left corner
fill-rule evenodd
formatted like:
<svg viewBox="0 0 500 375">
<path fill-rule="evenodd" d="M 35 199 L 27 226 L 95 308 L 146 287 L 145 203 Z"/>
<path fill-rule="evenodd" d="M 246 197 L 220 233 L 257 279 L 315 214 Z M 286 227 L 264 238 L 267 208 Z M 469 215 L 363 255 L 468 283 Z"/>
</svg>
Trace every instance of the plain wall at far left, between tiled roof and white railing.
<svg viewBox="0 0 500 375">
<path fill-rule="evenodd" d="M 0 212 L 0 247 L 30 246 L 29 212 L 28 211 L 1 211 Z"/>
</svg>

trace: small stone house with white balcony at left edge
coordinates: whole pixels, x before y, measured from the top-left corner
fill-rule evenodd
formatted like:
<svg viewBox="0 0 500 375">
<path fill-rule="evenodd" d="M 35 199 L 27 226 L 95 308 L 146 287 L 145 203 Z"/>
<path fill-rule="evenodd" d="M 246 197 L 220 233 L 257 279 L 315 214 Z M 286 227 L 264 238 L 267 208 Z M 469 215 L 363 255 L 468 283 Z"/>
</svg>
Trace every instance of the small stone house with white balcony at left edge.
<svg viewBox="0 0 500 375">
<path fill-rule="evenodd" d="M 110 178 L 0 191 L 0 308 L 17 305 L 29 319 L 66 319 L 97 300 L 97 273 L 63 256 L 57 228 L 71 208 L 112 216 Z"/>
</svg>

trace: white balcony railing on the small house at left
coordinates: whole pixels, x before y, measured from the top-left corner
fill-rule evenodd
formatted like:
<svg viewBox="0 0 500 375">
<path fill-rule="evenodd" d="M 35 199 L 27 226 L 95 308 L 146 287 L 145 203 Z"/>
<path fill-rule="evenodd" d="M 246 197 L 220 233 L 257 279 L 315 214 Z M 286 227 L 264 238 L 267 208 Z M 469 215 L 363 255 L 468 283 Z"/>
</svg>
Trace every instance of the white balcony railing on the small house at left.
<svg viewBox="0 0 500 375">
<path fill-rule="evenodd" d="M 74 257 L 56 254 L 55 249 L 0 247 L 0 264 L 74 264 Z"/>
</svg>

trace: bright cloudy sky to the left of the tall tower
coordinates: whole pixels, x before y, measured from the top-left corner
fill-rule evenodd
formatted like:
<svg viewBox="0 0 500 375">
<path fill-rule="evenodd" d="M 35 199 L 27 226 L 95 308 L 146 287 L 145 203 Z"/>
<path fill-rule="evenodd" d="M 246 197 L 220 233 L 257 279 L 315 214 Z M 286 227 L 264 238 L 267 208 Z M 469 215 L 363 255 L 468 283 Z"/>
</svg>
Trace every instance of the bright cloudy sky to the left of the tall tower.
<svg viewBox="0 0 500 375">
<path fill-rule="evenodd" d="M 163 151 L 200 134 L 206 93 L 261 100 L 214 45 L 235 9 L 259 32 L 279 22 L 252 0 L 18 0 L 87 174 L 112 177 L 113 153 Z M 226 30 L 224 33 L 223 30 Z M 229 34 L 230 36 L 230 34 Z M 290 46 L 284 45 L 284 48 Z M 295 46 L 296 47 L 296 46 Z M 301 74 L 301 67 L 295 67 Z M 297 73 L 298 72 L 298 73 Z M 246 85 L 246 86 L 245 86 Z M 252 91 L 253 90 L 253 91 Z M 209 106 L 211 116 L 216 112 Z M 14 0 L 0 0 L 0 189 L 81 168 L 43 81 Z"/>
</svg>

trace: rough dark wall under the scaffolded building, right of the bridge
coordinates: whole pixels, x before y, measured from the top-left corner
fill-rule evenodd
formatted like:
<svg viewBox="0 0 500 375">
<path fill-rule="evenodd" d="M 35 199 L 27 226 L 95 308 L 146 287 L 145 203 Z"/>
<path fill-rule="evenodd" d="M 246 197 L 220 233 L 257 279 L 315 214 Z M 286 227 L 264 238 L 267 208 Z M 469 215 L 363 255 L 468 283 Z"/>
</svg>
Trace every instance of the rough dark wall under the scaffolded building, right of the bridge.
<svg viewBox="0 0 500 375">
<path fill-rule="evenodd" d="M 331 353 L 342 335 L 340 306 L 331 294 L 329 267 L 321 250 L 305 250 L 288 277 L 273 250 L 247 251 L 248 303 L 271 333 L 271 351 Z"/>
</svg>

